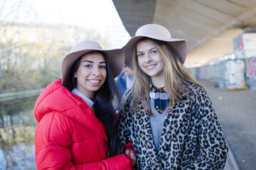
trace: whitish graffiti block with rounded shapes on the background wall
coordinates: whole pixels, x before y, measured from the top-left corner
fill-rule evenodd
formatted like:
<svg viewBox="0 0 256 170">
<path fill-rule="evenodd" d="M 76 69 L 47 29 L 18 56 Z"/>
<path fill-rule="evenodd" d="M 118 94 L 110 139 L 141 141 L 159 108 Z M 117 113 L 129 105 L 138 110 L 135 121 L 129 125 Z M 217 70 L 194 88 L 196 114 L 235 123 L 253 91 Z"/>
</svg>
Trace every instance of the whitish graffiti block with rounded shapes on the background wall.
<svg viewBox="0 0 256 170">
<path fill-rule="evenodd" d="M 245 89 L 245 60 L 227 60 L 225 62 L 225 88 Z"/>
</svg>

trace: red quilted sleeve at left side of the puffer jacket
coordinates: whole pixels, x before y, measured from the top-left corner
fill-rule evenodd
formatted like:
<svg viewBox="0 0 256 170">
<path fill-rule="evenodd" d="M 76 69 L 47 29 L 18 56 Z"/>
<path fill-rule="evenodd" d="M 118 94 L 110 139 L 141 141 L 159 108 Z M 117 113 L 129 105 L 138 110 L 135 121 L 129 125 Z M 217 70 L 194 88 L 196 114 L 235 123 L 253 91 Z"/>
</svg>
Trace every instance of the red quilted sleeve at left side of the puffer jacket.
<svg viewBox="0 0 256 170">
<path fill-rule="evenodd" d="M 54 118 L 55 112 L 43 116 L 36 128 L 36 166 L 37 169 L 71 169 L 73 166 L 71 146 L 72 128 L 63 116 Z"/>
</svg>

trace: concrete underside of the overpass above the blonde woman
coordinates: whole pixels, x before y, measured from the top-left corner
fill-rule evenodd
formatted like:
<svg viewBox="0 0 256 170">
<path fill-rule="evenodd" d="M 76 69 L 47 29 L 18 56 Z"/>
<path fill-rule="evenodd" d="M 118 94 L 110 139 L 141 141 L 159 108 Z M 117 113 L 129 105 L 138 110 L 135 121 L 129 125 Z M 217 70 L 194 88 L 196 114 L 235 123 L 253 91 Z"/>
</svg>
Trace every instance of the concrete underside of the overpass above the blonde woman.
<svg viewBox="0 0 256 170">
<path fill-rule="evenodd" d="M 233 52 L 232 38 L 256 26 L 256 0 L 112 1 L 131 36 L 140 26 L 157 23 L 172 38 L 186 39 L 187 67 L 208 64 Z"/>
</svg>

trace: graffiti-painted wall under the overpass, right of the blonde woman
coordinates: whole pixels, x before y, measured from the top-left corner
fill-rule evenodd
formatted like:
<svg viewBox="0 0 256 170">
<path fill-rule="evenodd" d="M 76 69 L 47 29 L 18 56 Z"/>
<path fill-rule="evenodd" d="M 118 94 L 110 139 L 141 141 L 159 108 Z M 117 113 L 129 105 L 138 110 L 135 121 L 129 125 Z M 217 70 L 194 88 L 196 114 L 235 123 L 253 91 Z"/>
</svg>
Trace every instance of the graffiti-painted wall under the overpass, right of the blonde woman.
<svg viewBox="0 0 256 170">
<path fill-rule="evenodd" d="M 252 89 L 256 91 L 256 57 L 228 59 L 212 65 L 190 69 L 196 79 L 218 82 L 221 89 Z"/>
</svg>

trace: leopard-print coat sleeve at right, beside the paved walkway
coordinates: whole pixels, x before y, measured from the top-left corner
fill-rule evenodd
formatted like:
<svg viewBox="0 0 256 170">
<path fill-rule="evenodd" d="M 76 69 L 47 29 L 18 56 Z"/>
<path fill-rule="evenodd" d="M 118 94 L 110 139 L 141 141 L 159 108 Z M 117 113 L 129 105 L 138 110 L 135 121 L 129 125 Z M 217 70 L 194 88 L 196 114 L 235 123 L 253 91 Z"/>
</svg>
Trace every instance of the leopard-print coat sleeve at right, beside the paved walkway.
<svg viewBox="0 0 256 170">
<path fill-rule="evenodd" d="M 185 169 L 224 169 L 228 147 L 213 104 L 206 91 L 201 91 L 198 127 L 199 155 Z"/>
</svg>

